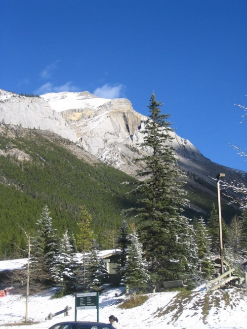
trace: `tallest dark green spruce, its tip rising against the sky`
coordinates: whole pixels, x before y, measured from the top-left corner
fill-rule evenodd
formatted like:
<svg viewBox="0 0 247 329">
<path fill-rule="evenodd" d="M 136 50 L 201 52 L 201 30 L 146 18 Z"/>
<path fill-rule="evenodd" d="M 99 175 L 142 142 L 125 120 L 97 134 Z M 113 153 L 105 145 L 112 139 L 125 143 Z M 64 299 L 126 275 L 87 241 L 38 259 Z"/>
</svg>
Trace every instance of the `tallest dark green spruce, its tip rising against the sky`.
<svg viewBox="0 0 247 329">
<path fill-rule="evenodd" d="M 142 143 L 149 153 L 138 159 L 146 164 L 138 172 L 145 180 L 131 192 L 139 196 L 138 207 L 127 211 L 139 219 L 140 239 L 151 271 L 157 275 L 156 285 L 164 280 L 186 279 L 194 269 L 187 248 L 191 228 L 182 215 L 187 203 L 183 173 L 171 145 L 169 115 L 161 114 L 161 106 L 152 94 Z"/>
</svg>

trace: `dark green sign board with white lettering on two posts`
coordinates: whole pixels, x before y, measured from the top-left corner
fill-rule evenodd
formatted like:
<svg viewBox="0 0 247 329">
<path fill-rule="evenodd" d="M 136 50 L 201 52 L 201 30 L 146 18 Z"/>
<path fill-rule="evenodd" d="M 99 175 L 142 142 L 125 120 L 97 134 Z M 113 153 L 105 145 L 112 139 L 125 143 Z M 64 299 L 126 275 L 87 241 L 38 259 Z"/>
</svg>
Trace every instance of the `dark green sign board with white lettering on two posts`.
<svg viewBox="0 0 247 329">
<path fill-rule="evenodd" d="M 97 322 L 99 322 L 99 292 L 76 293 L 75 321 L 77 311 L 97 309 Z"/>
</svg>

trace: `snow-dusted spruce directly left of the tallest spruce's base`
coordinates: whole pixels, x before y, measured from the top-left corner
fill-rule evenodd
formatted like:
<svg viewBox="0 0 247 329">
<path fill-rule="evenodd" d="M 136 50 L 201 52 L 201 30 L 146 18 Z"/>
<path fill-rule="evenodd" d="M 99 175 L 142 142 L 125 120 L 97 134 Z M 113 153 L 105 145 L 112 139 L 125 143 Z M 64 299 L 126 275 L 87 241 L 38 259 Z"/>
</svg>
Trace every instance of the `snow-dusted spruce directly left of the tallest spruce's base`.
<svg viewBox="0 0 247 329">
<path fill-rule="evenodd" d="M 124 268 L 124 277 L 122 285 L 127 286 L 134 292 L 143 290 L 150 281 L 150 274 L 147 270 L 147 262 L 143 257 L 142 244 L 136 230 L 129 235 L 130 244 L 127 248 L 127 259 Z"/>
</svg>

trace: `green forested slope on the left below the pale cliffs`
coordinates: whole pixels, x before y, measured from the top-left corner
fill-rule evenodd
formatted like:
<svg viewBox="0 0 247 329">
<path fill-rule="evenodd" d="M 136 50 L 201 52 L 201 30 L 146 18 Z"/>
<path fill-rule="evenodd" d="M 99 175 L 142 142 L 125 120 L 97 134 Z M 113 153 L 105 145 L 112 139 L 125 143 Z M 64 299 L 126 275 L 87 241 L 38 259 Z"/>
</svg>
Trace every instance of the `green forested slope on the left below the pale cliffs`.
<svg viewBox="0 0 247 329">
<path fill-rule="evenodd" d="M 66 229 L 76 233 L 85 205 L 92 229 L 108 248 L 111 242 L 103 235 L 121 225 L 122 209 L 133 206 L 125 195 L 130 187 L 123 185 L 133 180 L 54 133 L 1 123 L 0 258 L 22 255 L 24 235 L 17 223 L 34 231 L 44 205 L 59 236 Z"/>
</svg>

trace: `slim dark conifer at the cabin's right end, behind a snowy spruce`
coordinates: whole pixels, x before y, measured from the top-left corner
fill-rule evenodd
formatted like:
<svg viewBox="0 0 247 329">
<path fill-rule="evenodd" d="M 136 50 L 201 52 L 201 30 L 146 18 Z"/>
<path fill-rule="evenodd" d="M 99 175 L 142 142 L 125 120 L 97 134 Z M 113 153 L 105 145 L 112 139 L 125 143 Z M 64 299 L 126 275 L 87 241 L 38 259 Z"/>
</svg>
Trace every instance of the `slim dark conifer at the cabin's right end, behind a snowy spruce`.
<svg viewBox="0 0 247 329">
<path fill-rule="evenodd" d="M 129 239 L 129 227 L 126 219 L 122 221 L 122 226 L 120 228 L 120 236 L 117 237 L 117 247 L 121 250 L 120 255 L 120 265 L 118 271 L 121 276 L 124 275 L 124 267 L 126 265 L 127 249 L 130 244 Z"/>
</svg>

